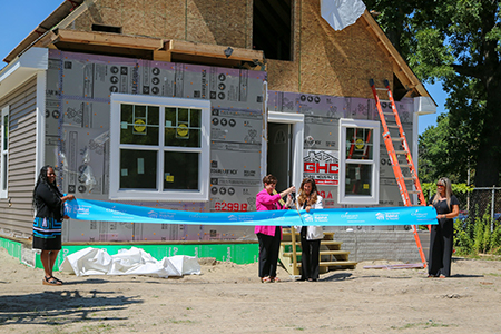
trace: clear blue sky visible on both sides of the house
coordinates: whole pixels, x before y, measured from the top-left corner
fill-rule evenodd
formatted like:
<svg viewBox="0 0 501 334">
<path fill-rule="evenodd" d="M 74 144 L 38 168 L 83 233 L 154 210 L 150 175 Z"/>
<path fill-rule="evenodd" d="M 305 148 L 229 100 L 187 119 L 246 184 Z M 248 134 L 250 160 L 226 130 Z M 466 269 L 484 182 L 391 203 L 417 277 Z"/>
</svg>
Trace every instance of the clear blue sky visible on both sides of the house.
<svg viewBox="0 0 501 334">
<path fill-rule="evenodd" d="M 0 12 L 2 13 L 0 20 L 0 61 L 62 2 L 62 0 L 0 0 Z M 6 65 L 1 61 L 0 68 Z M 436 116 L 444 112 L 443 106 L 446 98 L 440 82 L 426 85 L 426 89 L 439 106 L 436 107 L 436 114 L 420 117 L 420 134 L 429 126 L 436 125 Z"/>
</svg>

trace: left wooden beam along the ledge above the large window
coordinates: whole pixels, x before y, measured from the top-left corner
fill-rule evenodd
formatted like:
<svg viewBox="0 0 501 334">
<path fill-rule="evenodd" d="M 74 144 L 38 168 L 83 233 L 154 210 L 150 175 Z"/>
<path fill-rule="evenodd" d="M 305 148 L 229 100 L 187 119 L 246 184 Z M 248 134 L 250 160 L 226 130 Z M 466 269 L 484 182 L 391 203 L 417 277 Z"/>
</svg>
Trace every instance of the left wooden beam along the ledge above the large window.
<svg viewBox="0 0 501 334">
<path fill-rule="evenodd" d="M 158 38 L 127 36 L 111 32 L 87 32 L 77 30 L 56 30 L 58 41 L 92 46 L 108 46 L 141 50 L 159 50 L 164 41 Z"/>
</svg>

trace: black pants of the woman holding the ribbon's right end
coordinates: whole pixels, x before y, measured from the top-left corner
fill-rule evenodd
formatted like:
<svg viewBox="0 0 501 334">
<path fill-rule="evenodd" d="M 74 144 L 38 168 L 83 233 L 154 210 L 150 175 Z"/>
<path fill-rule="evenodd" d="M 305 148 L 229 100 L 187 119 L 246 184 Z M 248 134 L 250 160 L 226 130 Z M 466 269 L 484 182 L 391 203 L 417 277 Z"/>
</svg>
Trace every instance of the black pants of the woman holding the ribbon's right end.
<svg viewBox="0 0 501 334">
<path fill-rule="evenodd" d="M 433 276 L 451 276 L 451 258 L 454 226 L 452 219 L 440 219 L 432 225 L 428 273 Z"/>
</svg>

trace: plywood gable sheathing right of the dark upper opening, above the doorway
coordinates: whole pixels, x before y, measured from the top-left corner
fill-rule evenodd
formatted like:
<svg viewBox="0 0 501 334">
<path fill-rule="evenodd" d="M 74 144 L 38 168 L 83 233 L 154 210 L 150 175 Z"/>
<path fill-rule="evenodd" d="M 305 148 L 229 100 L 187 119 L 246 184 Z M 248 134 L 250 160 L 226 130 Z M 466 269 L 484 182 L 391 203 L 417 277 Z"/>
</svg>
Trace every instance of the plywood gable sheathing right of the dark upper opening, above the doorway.
<svg viewBox="0 0 501 334">
<path fill-rule="evenodd" d="M 369 79 L 392 81 L 393 62 L 365 21 L 335 31 L 321 17 L 318 1 L 298 0 L 294 10 L 298 50 L 293 61 L 269 61 L 269 89 L 372 98 Z"/>
</svg>

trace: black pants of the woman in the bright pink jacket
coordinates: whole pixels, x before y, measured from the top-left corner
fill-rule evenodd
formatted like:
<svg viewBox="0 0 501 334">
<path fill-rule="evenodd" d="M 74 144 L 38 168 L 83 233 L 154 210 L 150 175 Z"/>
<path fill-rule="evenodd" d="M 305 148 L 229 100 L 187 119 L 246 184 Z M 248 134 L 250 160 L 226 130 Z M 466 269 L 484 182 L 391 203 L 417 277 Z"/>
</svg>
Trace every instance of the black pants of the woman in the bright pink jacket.
<svg viewBox="0 0 501 334">
<path fill-rule="evenodd" d="M 281 248 L 281 228 L 275 229 L 275 236 L 257 234 L 259 240 L 259 277 L 276 277 L 278 252 Z"/>
</svg>

